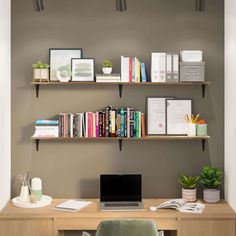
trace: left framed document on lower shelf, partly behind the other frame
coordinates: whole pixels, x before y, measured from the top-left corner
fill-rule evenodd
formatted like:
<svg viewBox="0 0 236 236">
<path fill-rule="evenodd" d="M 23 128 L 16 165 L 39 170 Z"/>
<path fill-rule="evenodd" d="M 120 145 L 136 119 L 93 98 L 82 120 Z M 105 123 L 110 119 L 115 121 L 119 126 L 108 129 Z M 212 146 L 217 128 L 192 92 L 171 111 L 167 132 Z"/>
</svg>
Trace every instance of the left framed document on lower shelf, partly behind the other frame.
<svg viewBox="0 0 236 236">
<path fill-rule="evenodd" d="M 166 100 L 174 97 L 147 97 L 147 135 L 166 135 Z"/>
</svg>

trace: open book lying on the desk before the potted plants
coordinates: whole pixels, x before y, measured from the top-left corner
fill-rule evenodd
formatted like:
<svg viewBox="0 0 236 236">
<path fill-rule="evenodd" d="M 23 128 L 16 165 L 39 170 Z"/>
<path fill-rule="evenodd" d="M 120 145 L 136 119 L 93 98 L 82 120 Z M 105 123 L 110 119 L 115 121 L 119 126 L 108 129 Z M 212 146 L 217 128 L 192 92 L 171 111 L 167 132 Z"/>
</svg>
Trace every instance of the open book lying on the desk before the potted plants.
<svg viewBox="0 0 236 236">
<path fill-rule="evenodd" d="M 180 198 L 180 199 L 169 200 L 156 207 L 156 209 L 164 209 L 164 208 L 171 208 L 186 213 L 201 214 L 205 208 L 205 205 L 199 202 L 187 203 L 185 199 Z"/>
</svg>

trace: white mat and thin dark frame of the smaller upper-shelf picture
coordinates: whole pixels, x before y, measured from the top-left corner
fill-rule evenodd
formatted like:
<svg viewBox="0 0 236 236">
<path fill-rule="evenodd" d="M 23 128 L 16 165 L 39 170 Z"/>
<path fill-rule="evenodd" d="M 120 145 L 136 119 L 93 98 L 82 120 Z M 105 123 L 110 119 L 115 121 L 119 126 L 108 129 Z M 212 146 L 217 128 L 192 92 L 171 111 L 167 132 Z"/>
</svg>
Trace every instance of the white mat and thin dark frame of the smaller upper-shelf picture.
<svg viewBox="0 0 236 236">
<path fill-rule="evenodd" d="M 89 77 L 84 77 L 84 76 L 77 76 L 76 75 L 76 66 L 78 64 L 84 64 L 84 63 L 88 63 L 90 64 L 90 72 L 91 72 L 91 76 Z M 94 59 L 73 59 L 72 60 L 72 81 L 94 81 L 94 77 L 95 77 L 95 71 L 94 71 Z"/>
</svg>

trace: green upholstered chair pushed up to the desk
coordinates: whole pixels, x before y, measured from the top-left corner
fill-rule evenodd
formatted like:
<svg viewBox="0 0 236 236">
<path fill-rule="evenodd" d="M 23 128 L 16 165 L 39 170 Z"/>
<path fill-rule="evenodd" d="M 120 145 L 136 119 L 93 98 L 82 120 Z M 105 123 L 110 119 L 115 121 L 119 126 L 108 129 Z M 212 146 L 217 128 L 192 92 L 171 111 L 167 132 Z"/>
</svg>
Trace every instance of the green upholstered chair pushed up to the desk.
<svg viewBox="0 0 236 236">
<path fill-rule="evenodd" d="M 162 236 L 153 220 L 108 220 L 99 224 L 96 236 Z M 83 236 L 90 236 L 83 232 Z"/>
</svg>

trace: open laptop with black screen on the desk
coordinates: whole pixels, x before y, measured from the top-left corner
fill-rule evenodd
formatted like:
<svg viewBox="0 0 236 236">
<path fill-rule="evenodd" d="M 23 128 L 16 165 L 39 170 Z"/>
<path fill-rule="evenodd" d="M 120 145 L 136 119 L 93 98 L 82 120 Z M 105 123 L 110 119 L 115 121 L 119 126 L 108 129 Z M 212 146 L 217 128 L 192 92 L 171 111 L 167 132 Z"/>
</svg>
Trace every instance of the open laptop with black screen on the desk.
<svg viewBox="0 0 236 236">
<path fill-rule="evenodd" d="M 100 175 L 101 211 L 143 211 L 142 175 Z"/>
</svg>

